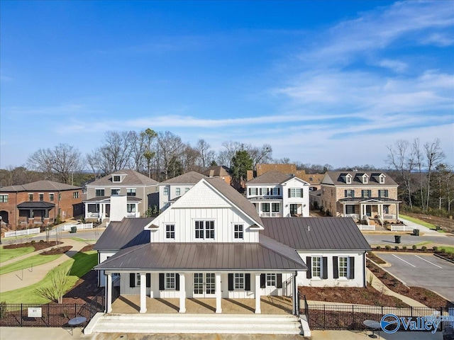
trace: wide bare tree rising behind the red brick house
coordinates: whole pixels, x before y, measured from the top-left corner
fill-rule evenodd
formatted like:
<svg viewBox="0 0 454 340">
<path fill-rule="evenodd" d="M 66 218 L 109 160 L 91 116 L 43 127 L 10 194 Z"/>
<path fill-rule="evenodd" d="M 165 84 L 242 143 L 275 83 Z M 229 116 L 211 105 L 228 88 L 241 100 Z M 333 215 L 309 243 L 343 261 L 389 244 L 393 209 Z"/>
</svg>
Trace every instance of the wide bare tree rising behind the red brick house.
<svg viewBox="0 0 454 340">
<path fill-rule="evenodd" d="M 50 178 L 55 174 L 63 183 L 70 183 L 70 174 L 79 170 L 82 156 L 78 149 L 62 144 L 53 149 L 38 149 L 28 157 L 28 166 L 46 174 Z"/>
</svg>

